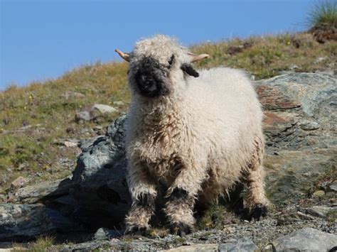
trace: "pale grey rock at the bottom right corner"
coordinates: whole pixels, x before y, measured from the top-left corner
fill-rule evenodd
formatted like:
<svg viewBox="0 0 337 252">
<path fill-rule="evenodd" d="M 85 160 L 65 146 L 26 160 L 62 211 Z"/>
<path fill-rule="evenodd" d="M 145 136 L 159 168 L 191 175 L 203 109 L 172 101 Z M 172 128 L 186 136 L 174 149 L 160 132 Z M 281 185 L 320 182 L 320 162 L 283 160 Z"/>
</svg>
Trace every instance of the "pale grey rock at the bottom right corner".
<svg viewBox="0 0 337 252">
<path fill-rule="evenodd" d="M 337 236 L 316 229 L 294 231 L 274 241 L 276 251 L 336 251 Z"/>
</svg>

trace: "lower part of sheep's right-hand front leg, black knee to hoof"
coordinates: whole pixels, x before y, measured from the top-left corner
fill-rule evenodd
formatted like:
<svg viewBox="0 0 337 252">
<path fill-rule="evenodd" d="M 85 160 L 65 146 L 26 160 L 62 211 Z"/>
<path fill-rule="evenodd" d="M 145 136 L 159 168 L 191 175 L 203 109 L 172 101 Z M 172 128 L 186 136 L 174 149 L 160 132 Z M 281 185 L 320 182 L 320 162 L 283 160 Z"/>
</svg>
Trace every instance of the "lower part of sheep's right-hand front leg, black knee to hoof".
<svg viewBox="0 0 337 252">
<path fill-rule="evenodd" d="M 171 233 L 179 236 L 191 233 L 194 201 L 194 197 L 189 196 L 186 190 L 178 187 L 173 190 L 164 209 L 171 223 Z"/>
</svg>

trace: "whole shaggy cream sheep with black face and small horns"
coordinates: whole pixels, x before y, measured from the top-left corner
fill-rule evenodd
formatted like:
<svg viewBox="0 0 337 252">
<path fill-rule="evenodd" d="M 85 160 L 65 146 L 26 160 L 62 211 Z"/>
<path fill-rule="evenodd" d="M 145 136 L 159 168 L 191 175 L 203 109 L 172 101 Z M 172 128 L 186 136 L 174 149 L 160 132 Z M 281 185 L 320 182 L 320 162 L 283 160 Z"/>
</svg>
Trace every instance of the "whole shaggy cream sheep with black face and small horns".
<svg viewBox="0 0 337 252">
<path fill-rule="evenodd" d="M 158 199 L 171 232 L 193 230 L 196 202 L 209 206 L 238 182 L 247 185 L 254 219 L 267 213 L 262 109 L 240 70 L 196 70 L 194 55 L 166 35 L 139 40 L 129 62 L 132 95 L 126 126 L 132 207 L 127 234 L 149 230 Z"/>
</svg>

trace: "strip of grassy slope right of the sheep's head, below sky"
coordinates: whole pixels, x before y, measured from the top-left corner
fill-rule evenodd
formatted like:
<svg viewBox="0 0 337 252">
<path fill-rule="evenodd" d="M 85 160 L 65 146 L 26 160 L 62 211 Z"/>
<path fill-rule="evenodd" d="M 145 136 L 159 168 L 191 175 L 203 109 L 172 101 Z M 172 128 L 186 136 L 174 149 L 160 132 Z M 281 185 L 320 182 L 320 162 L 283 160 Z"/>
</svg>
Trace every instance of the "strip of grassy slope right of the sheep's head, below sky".
<svg viewBox="0 0 337 252">
<path fill-rule="evenodd" d="M 249 46 L 247 46 L 249 45 Z M 239 53 L 230 54 L 232 48 Z M 208 53 L 209 60 L 198 62 L 199 67 L 223 65 L 246 70 L 261 80 L 278 75 L 280 71 L 297 66 L 296 72 L 315 72 L 336 67 L 336 43 L 321 45 L 309 33 L 285 33 L 222 43 L 204 43 L 191 48 L 193 53 Z M 317 62 L 319 57 L 325 60 Z"/>
</svg>

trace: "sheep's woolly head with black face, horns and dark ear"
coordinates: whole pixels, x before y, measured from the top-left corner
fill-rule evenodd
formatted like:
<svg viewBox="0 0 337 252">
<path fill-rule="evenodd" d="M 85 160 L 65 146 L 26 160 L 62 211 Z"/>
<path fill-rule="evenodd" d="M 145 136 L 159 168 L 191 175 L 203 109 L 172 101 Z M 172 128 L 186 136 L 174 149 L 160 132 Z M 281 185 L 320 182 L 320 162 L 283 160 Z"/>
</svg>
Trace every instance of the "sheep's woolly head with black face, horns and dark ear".
<svg viewBox="0 0 337 252">
<path fill-rule="evenodd" d="M 178 89 L 186 75 L 198 77 L 192 62 L 209 57 L 207 54 L 195 55 L 179 45 L 174 38 L 155 35 L 139 40 L 132 53 L 115 50 L 119 56 L 130 63 L 129 85 L 144 97 L 161 97 Z"/>
</svg>

